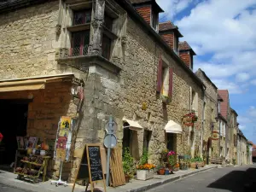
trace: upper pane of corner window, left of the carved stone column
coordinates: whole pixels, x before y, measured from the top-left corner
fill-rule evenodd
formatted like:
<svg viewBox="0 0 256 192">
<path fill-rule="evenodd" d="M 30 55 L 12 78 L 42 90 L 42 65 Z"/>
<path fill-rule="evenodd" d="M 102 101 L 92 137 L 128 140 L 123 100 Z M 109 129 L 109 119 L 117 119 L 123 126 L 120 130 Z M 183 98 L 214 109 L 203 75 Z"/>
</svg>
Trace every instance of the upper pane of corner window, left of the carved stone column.
<svg viewBox="0 0 256 192">
<path fill-rule="evenodd" d="M 84 9 L 73 12 L 73 26 L 90 23 L 91 9 Z"/>
</svg>

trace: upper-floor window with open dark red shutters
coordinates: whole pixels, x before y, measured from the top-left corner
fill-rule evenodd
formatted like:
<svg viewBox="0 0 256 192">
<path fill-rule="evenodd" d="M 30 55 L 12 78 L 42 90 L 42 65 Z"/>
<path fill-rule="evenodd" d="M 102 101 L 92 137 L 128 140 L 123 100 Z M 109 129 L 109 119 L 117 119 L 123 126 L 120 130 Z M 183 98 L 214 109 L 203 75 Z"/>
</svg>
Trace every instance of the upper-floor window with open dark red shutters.
<svg viewBox="0 0 256 192">
<path fill-rule="evenodd" d="M 163 61 L 162 57 L 160 57 L 158 66 L 156 91 L 160 94 L 163 102 L 172 101 L 173 69 L 169 67 L 168 61 Z"/>
</svg>

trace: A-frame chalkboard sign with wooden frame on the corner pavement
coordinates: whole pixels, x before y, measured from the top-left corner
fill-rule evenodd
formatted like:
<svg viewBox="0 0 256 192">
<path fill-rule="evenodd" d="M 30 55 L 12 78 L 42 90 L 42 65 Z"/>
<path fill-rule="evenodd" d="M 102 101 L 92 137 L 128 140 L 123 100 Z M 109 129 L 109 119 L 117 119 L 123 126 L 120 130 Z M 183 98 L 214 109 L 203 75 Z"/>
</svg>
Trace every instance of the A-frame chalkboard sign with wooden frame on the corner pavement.
<svg viewBox="0 0 256 192">
<path fill-rule="evenodd" d="M 75 187 L 75 183 L 77 180 L 90 180 L 91 191 L 93 192 L 94 185 L 93 183 L 96 181 L 103 181 L 104 189 L 106 192 L 106 183 L 104 173 L 102 171 L 102 155 L 101 155 L 101 144 L 86 144 L 84 147 L 84 153 L 82 156 L 82 160 L 79 166 L 79 171 L 77 173 L 77 177 L 75 182 L 73 183 L 73 190 Z M 86 185 L 86 189 L 88 187 Z M 72 190 L 72 191 L 73 191 Z"/>
</svg>

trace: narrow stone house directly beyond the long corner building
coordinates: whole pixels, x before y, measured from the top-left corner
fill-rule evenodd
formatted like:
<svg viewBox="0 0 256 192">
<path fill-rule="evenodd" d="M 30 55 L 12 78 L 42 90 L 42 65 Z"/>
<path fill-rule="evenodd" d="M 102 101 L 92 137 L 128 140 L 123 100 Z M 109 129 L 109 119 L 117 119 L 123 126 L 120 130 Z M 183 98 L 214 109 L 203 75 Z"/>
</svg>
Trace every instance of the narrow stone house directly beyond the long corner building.
<svg viewBox="0 0 256 192">
<path fill-rule="evenodd" d="M 211 79 L 207 77 L 204 71 L 198 69 L 195 74 L 206 85 L 206 90 L 204 90 L 203 95 L 202 145 L 204 144 L 203 154 L 207 157 L 207 162 L 211 162 L 212 157 L 219 156 L 219 138 L 215 140 L 212 135 L 214 131 L 219 132 L 218 107 L 219 102 L 223 100 L 218 96 L 217 86 L 212 83 Z"/>
</svg>

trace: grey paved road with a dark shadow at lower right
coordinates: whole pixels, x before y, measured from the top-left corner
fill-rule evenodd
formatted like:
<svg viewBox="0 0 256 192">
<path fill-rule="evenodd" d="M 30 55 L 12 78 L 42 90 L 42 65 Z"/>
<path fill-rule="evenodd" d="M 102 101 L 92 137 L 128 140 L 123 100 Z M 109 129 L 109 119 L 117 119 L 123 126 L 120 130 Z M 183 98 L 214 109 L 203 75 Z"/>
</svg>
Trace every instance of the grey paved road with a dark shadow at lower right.
<svg viewBox="0 0 256 192">
<path fill-rule="evenodd" d="M 253 180 L 256 181 L 255 165 L 226 167 L 201 172 L 148 192 L 255 192 Z M 250 189 L 245 189 L 247 183 L 251 183 Z"/>
</svg>

